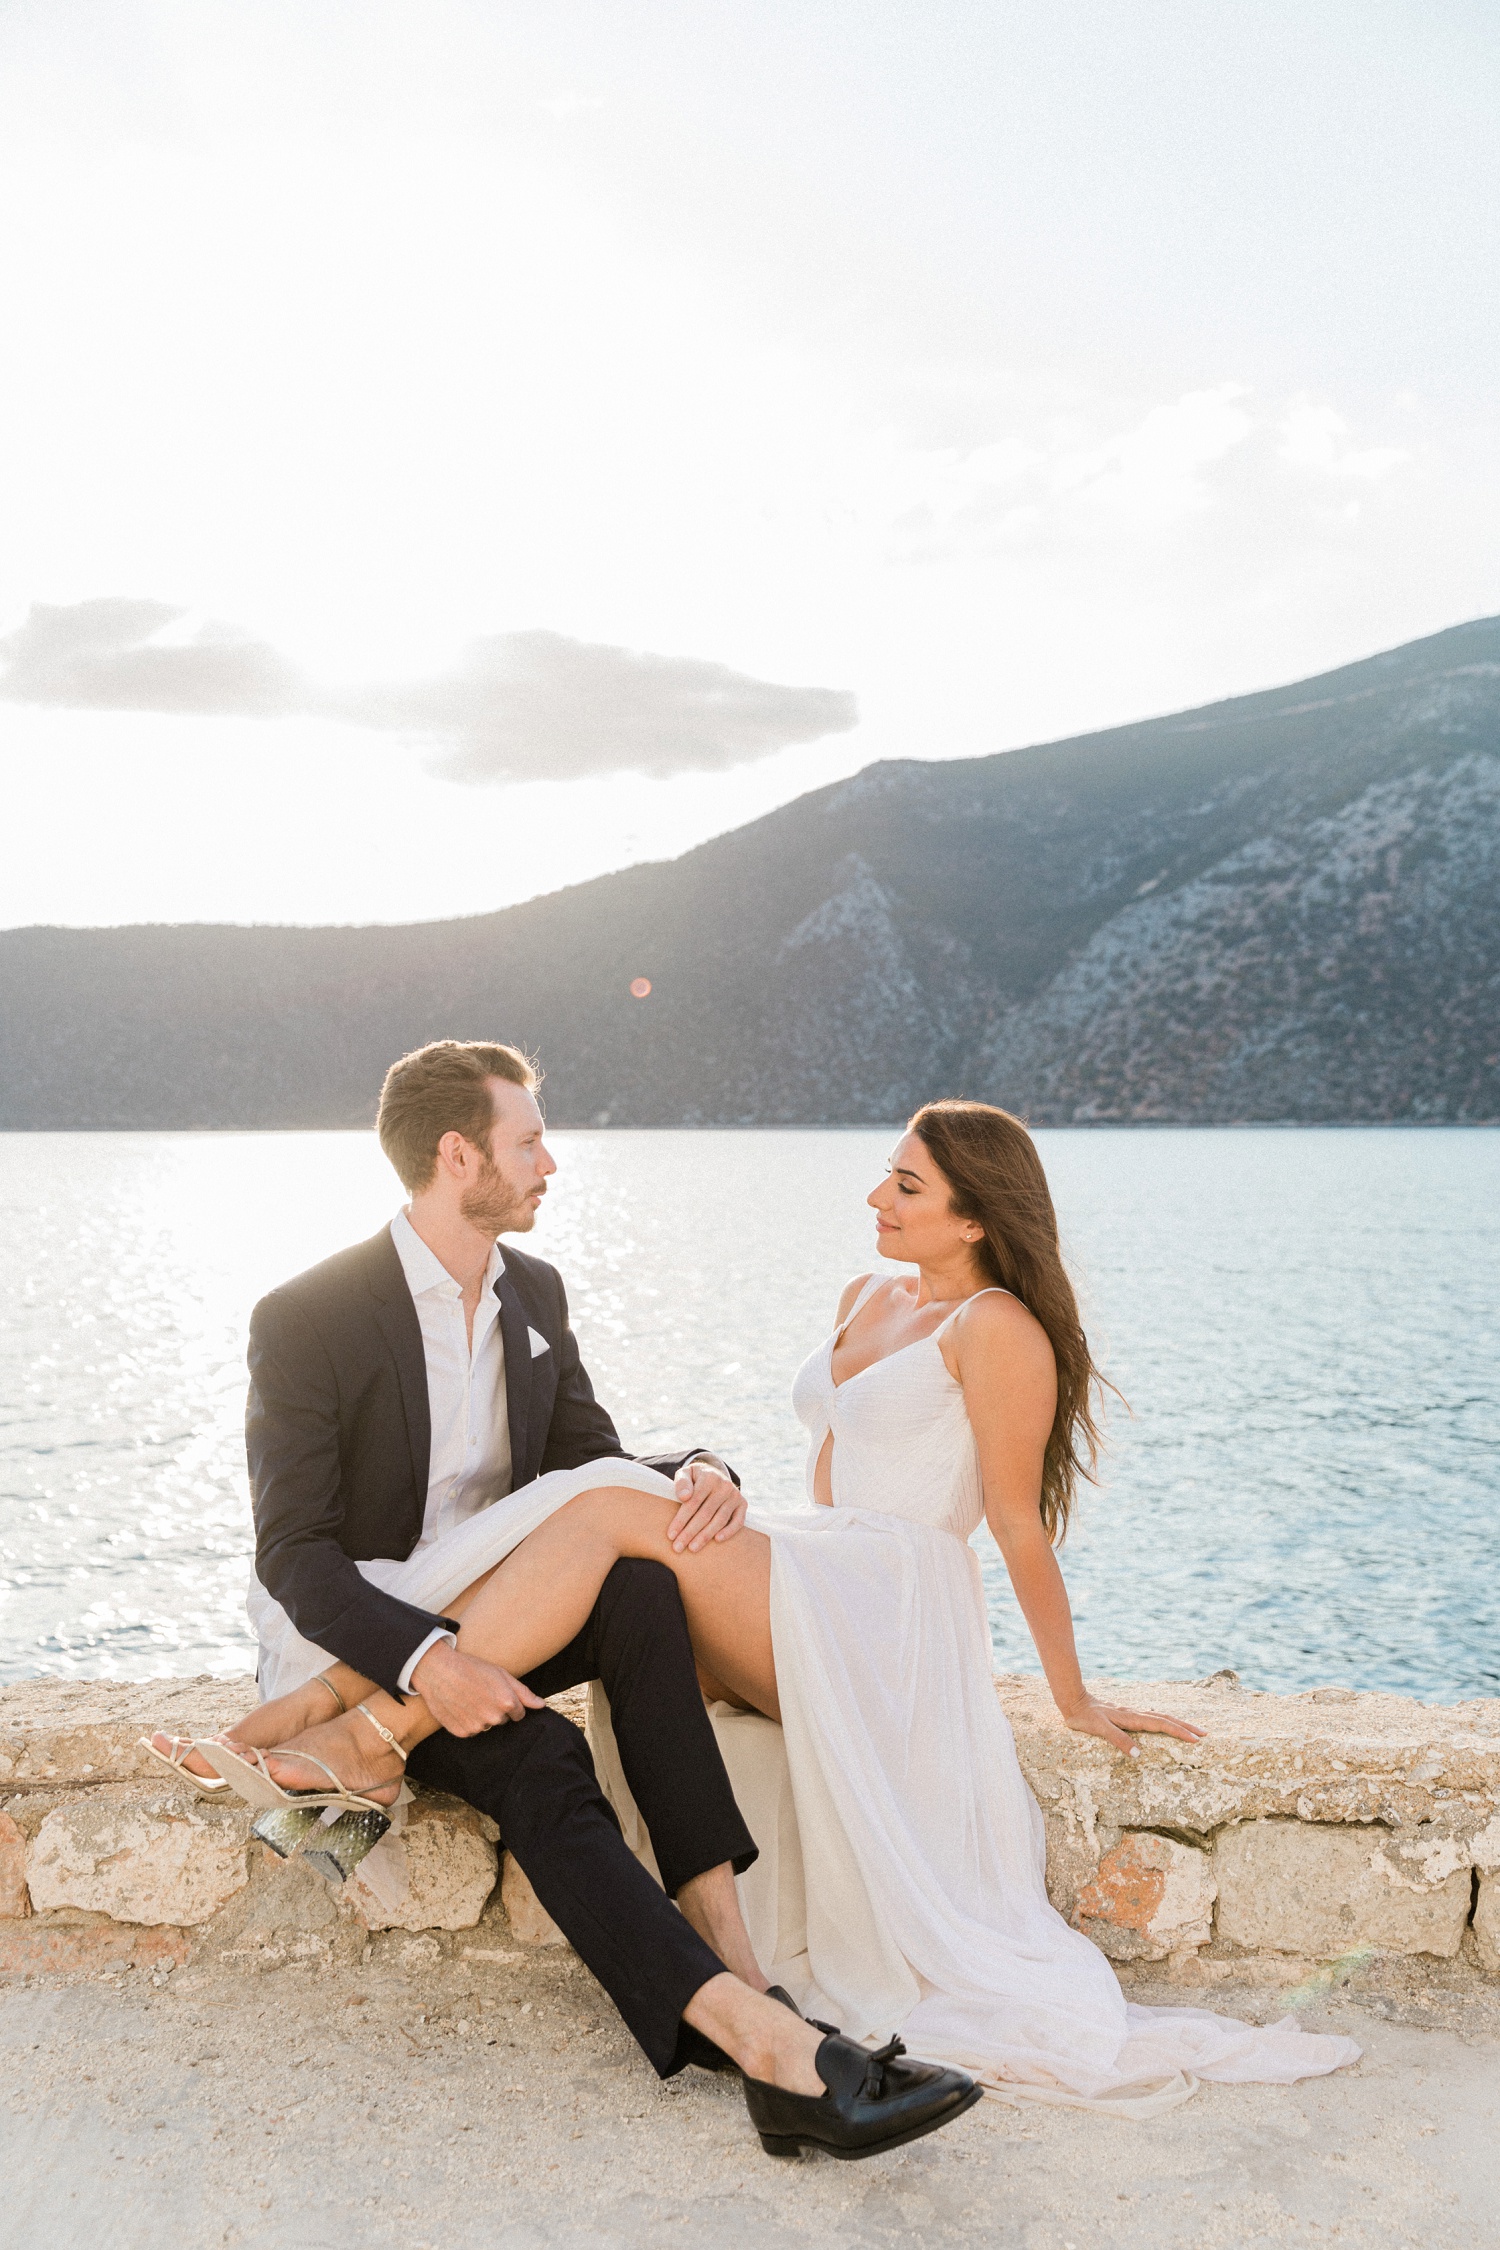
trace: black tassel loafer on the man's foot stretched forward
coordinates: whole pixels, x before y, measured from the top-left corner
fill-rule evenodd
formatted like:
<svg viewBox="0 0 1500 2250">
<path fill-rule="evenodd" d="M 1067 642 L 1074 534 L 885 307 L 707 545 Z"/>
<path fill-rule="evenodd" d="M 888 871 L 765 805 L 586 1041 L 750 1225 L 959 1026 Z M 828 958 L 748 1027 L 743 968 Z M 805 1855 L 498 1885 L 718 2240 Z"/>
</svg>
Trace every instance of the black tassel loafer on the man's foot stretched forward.
<svg viewBox="0 0 1500 2250">
<path fill-rule="evenodd" d="M 900 2038 L 875 2054 L 830 2032 L 814 2066 L 828 2092 L 789 2095 L 765 2079 L 744 2081 L 744 2106 L 767 2156 L 823 2149 L 825 2156 L 884 2156 L 922 2140 L 974 2108 L 981 2088 L 963 2070 L 920 2063 Z"/>
</svg>

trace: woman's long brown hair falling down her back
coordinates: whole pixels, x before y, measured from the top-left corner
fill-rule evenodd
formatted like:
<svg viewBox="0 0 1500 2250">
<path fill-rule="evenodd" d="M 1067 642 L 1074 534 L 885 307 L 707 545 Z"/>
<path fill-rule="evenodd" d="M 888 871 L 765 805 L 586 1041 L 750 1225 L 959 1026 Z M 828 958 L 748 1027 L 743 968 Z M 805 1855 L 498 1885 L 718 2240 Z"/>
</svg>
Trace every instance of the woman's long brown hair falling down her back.
<svg viewBox="0 0 1500 2250">
<path fill-rule="evenodd" d="M 1052 1346 L 1057 1413 L 1041 1460 L 1041 1526 L 1052 1546 L 1061 1546 L 1079 1478 L 1097 1485 L 1100 1426 L 1093 1408 L 1106 1377 L 1093 1364 L 1077 1316 L 1037 1143 L 1021 1118 L 990 1102 L 924 1102 L 909 1132 L 947 1179 L 958 1217 L 985 1228 L 978 1249 L 985 1276 L 1021 1298 Z"/>
</svg>

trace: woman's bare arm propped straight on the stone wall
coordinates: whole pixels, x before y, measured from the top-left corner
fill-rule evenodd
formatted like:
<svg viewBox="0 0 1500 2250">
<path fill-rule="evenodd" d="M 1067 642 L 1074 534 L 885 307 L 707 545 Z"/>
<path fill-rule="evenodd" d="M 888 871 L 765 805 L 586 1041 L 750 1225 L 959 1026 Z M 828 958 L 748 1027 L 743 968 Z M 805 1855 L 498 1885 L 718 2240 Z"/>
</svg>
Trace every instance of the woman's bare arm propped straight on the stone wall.
<svg viewBox="0 0 1500 2250">
<path fill-rule="evenodd" d="M 985 1521 L 1061 1717 L 1079 1735 L 1100 1735 L 1131 1755 L 1131 1732 L 1199 1742 L 1201 1730 L 1183 1719 L 1097 1703 L 1084 1688 L 1068 1588 L 1041 1528 L 1041 1462 L 1057 1413 L 1057 1366 L 1041 1321 L 1014 1296 L 978 1298 L 954 1321 L 942 1357 L 963 1384 L 974 1426 Z"/>
</svg>

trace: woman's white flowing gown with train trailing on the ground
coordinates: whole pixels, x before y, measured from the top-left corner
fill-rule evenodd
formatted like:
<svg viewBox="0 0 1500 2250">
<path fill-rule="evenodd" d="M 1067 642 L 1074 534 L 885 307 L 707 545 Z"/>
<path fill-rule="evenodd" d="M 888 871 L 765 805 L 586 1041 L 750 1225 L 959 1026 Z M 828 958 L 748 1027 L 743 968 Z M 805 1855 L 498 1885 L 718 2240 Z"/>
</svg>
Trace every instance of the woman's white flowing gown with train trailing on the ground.
<svg viewBox="0 0 1500 2250">
<path fill-rule="evenodd" d="M 749 1519 L 771 1541 L 783 1724 L 715 1706 L 715 1728 L 760 1847 L 740 1876 L 758 1960 L 810 2016 L 900 2032 L 1007 2099 L 1151 2115 L 1196 2079 L 1289 2084 L 1356 2061 L 1352 2038 L 1293 2016 L 1262 2030 L 1131 2005 L 1052 1908 L 1041 1811 L 994 1692 L 967 1544 L 978 1451 L 942 1328 L 843 1384 L 830 1336 L 792 1402 L 810 1487 L 832 1431 L 832 1508 Z M 645 1852 L 598 1690 L 591 1735 Z"/>
</svg>

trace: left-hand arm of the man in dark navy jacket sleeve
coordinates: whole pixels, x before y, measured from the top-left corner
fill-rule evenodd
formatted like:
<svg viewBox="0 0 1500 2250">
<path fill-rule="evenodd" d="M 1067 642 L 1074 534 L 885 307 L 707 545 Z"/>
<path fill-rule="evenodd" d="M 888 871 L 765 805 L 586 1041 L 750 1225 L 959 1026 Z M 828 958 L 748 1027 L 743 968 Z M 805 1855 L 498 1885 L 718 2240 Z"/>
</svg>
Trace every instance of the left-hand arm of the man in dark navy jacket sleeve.
<svg viewBox="0 0 1500 2250">
<path fill-rule="evenodd" d="M 450 1624 L 382 1593 L 340 1546 L 340 1402 L 313 1323 L 286 1298 L 250 1316 L 245 1454 L 256 1577 L 297 1631 L 398 1694 L 412 1654 Z"/>
</svg>

